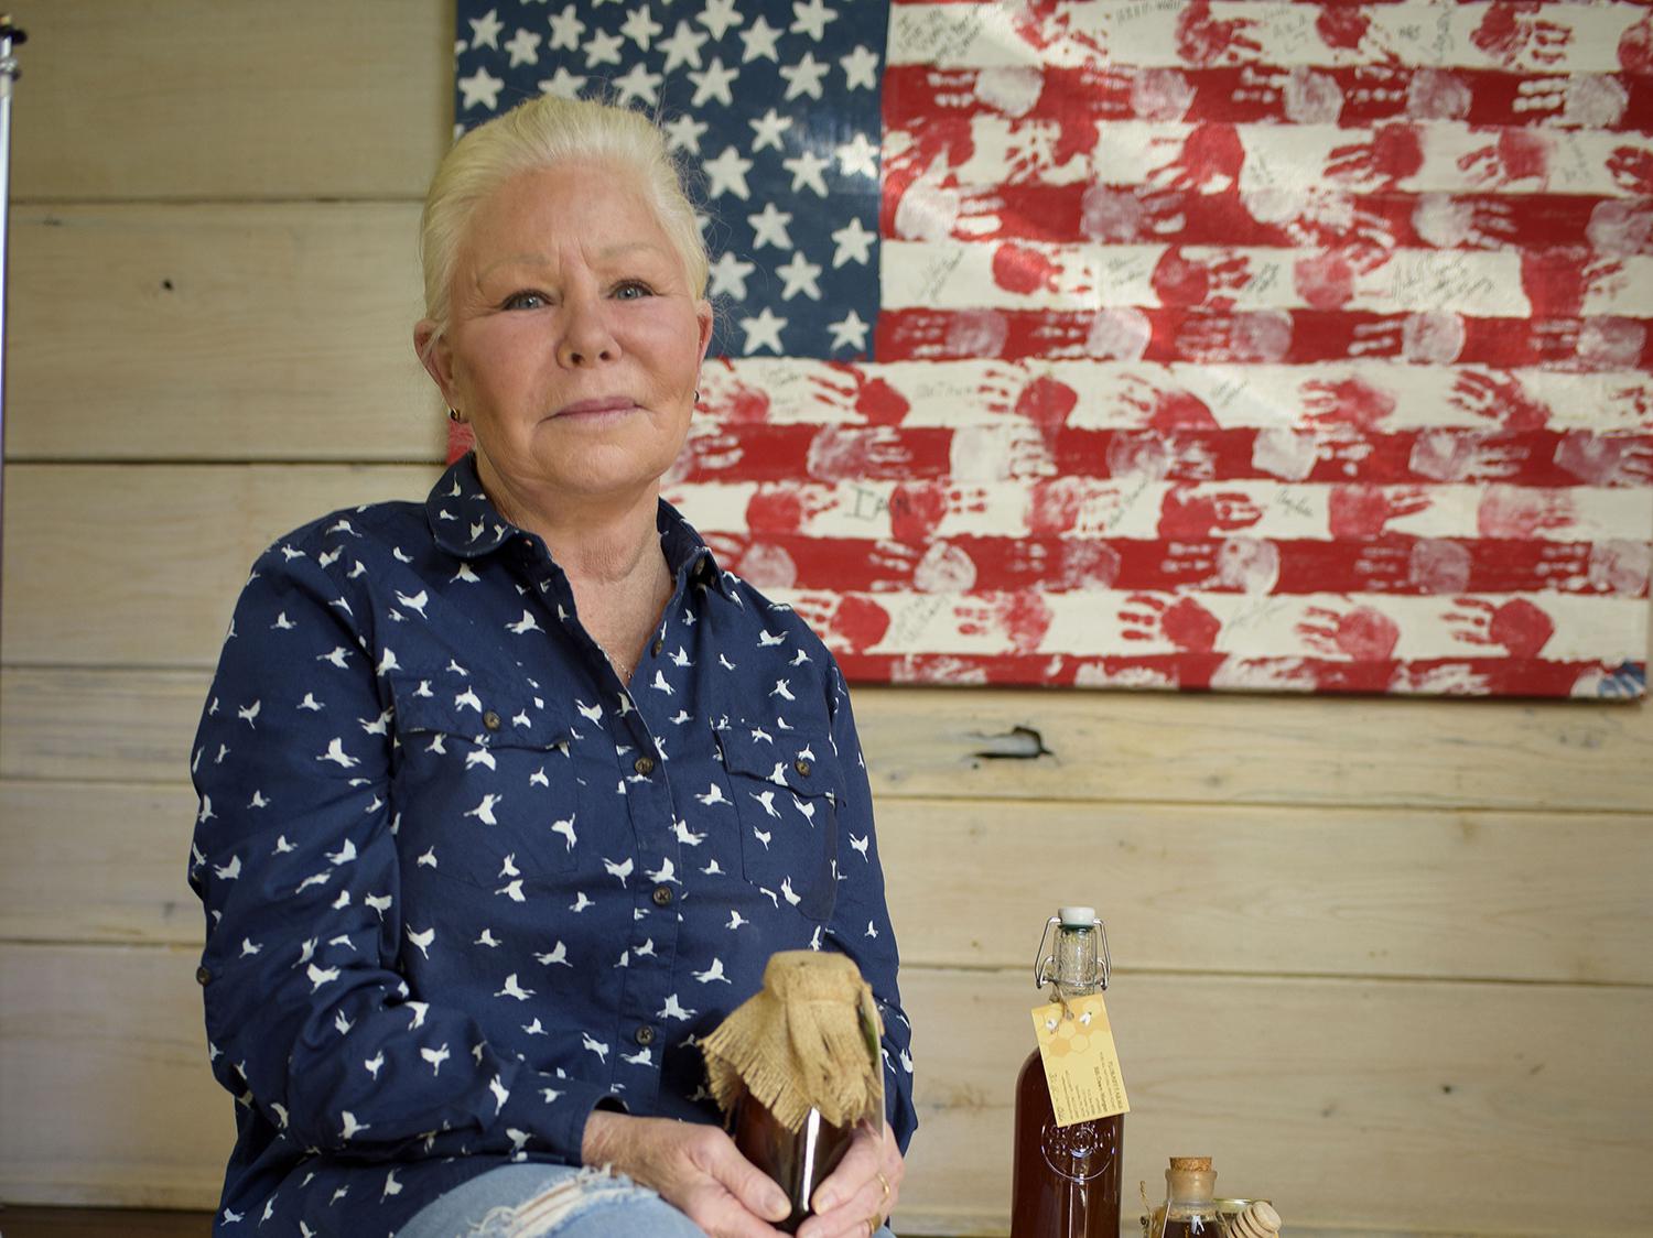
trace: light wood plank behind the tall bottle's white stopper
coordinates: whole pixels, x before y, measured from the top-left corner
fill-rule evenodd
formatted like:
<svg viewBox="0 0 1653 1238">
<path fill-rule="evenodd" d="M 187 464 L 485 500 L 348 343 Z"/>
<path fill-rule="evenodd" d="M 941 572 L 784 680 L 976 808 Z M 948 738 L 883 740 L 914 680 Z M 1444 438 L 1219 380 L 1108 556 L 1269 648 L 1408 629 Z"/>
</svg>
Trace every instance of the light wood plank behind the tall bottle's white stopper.
<svg viewBox="0 0 1653 1238">
<path fill-rule="evenodd" d="M 197 944 L 193 813 L 182 775 L 0 782 L 0 939 Z M 909 967 L 1027 969 L 1091 899 L 1127 974 L 1653 980 L 1645 817 L 886 800 L 879 846 Z"/>
</svg>

